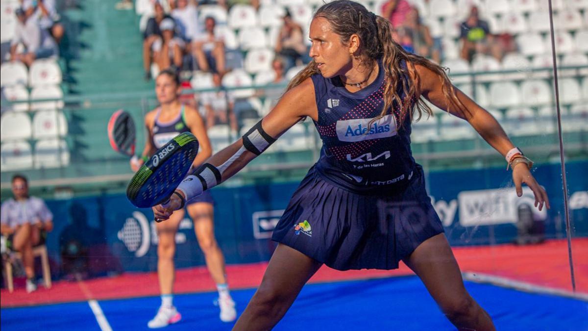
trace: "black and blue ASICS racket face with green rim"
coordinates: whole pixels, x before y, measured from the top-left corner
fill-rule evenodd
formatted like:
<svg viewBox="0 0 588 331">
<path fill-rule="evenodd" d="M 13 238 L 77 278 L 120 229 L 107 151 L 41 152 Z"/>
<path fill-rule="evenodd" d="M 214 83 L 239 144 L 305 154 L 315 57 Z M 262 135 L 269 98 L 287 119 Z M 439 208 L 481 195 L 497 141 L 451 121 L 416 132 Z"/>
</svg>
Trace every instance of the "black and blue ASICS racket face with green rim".
<svg viewBox="0 0 588 331">
<path fill-rule="evenodd" d="M 159 148 L 131 179 L 126 196 L 139 208 L 153 207 L 168 200 L 186 177 L 196 154 L 198 140 L 182 133 Z"/>
</svg>

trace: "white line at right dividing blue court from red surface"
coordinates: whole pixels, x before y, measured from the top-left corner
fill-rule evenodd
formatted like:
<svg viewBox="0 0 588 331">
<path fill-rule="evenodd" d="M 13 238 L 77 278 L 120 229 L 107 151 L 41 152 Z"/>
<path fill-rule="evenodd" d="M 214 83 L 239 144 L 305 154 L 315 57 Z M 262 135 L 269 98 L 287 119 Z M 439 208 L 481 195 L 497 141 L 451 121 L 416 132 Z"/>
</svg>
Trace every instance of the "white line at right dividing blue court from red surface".
<svg viewBox="0 0 588 331">
<path fill-rule="evenodd" d="M 493 284 L 496 286 L 510 287 L 512 289 L 520 290 L 520 291 L 524 291 L 524 292 L 554 294 L 554 295 L 558 295 L 558 296 L 572 297 L 574 299 L 588 301 L 588 294 L 586 294 L 586 293 L 579 293 L 579 292 L 574 293 L 574 292 L 568 291 L 568 290 L 554 289 L 553 287 L 547 287 L 547 286 L 539 286 L 539 285 L 532 284 L 532 283 L 520 282 L 519 280 L 512 280 L 512 279 L 508 279 L 506 277 L 493 276 L 490 274 L 466 272 L 466 273 L 463 273 L 463 279 L 469 280 L 470 282 L 490 283 L 490 284 Z"/>
</svg>

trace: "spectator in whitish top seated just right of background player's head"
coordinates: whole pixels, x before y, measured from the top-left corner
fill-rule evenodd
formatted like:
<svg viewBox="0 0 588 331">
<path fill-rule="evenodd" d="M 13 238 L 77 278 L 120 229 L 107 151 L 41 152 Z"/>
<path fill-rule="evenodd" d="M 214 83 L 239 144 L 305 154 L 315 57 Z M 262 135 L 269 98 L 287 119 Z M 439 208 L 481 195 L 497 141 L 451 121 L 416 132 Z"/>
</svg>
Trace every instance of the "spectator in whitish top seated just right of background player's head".
<svg viewBox="0 0 588 331">
<path fill-rule="evenodd" d="M 233 132 L 238 132 L 238 123 L 235 116 L 235 98 L 230 91 L 222 89 L 220 84 L 220 75 L 215 73 L 212 75 L 212 84 L 216 91 L 202 92 L 200 100 L 202 106 L 206 110 L 206 129 L 213 127 L 216 120 L 220 123 L 228 123 Z"/>
</svg>

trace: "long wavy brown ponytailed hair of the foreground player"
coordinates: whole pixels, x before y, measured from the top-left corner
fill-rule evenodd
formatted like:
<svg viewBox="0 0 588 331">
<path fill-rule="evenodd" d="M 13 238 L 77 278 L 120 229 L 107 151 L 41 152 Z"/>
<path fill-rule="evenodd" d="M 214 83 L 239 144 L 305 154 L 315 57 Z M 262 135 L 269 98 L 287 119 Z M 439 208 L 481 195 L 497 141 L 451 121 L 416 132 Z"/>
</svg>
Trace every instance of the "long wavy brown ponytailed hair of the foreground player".
<svg viewBox="0 0 588 331">
<path fill-rule="evenodd" d="M 433 111 L 416 89 L 420 82 L 418 72 L 414 66 L 409 69 L 407 65 L 401 65 L 403 60 L 413 65 L 422 65 L 437 74 L 443 84 L 442 91 L 448 101 L 448 111 L 463 108 L 462 102 L 455 97 L 453 85 L 447 77 L 445 68 L 429 61 L 429 59 L 405 51 L 392 39 L 392 27 L 386 18 L 373 14 L 362 4 L 349 0 L 336 0 L 320 6 L 313 19 L 318 17 L 329 21 L 332 31 L 340 36 L 343 44 L 347 44 L 353 34 L 359 36 L 360 47 L 354 56 L 358 57 L 366 67 L 373 68 L 373 65 L 377 65 L 374 60 L 382 58 L 385 71 L 384 104 L 381 114 L 372 121 L 377 121 L 386 115 L 388 108 L 394 101 L 400 107 L 399 114 L 397 114 L 400 120 L 399 125 L 404 123 L 407 115 L 411 120 L 415 119 L 413 116 L 415 110 L 418 112 L 415 120 L 420 120 L 423 112 L 429 116 L 433 115 Z M 409 70 L 414 77 L 412 84 L 407 84 L 407 80 L 402 79 L 402 77 L 410 79 Z M 311 61 L 290 81 L 286 91 L 319 72 L 315 61 Z M 399 88 L 399 84 L 402 84 L 402 88 Z M 400 95 L 404 95 L 404 97 L 401 98 Z"/>
</svg>

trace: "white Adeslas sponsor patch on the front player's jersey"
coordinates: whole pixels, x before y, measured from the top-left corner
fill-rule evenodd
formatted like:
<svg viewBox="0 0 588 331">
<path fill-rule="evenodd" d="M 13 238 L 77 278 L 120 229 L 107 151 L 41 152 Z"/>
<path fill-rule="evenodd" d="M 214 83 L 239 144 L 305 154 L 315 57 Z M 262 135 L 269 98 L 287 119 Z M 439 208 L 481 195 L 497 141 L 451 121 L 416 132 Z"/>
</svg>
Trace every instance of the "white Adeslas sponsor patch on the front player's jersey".
<svg viewBox="0 0 588 331">
<path fill-rule="evenodd" d="M 386 115 L 369 125 L 372 120 L 373 118 L 358 118 L 337 121 L 337 137 L 340 141 L 362 141 L 387 138 L 397 134 L 393 115 Z"/>
</svg>

